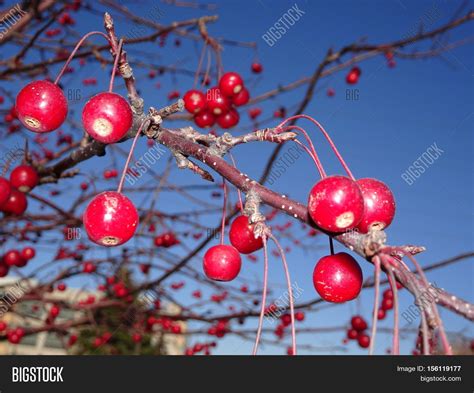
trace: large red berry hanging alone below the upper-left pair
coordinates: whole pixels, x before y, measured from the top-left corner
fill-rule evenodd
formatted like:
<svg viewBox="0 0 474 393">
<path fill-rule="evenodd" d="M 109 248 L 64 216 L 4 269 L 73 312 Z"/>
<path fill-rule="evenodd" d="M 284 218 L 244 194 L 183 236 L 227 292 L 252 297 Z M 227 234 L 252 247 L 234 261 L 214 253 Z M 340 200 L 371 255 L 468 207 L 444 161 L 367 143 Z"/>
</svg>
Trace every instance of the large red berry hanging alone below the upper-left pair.
<svg viewBox="0 0 474 393">
<path fill-rule="evenodd" d="M 118 246 L 129 241 L 138 226 L 138 212 L 132 201 L 115 191 L 97 195 L 84 212 L 89 239 L 102 246 Z"/>
</svg>

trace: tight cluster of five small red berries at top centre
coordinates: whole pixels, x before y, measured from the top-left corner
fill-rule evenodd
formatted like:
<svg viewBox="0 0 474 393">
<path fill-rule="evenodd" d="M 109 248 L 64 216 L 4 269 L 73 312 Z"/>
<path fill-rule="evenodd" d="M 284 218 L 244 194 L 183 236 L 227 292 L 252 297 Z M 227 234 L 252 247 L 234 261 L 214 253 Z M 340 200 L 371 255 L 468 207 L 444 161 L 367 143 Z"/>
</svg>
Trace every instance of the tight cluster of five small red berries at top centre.
<svg viewBox="0 0 474 393">
<path fill-rule="evenodd" d="M 224 129 L 239 123 L 239 112 L 234 108 L 245 105 L 250 95 L 236 72 L 227 72 L 219 80 L 219 86 L 207 90 L 189 90 L 183 97 L 186 110 L 194 116 L 198 127 L 212 127 L 216 122 Z"/>
</svg>

